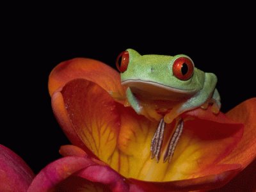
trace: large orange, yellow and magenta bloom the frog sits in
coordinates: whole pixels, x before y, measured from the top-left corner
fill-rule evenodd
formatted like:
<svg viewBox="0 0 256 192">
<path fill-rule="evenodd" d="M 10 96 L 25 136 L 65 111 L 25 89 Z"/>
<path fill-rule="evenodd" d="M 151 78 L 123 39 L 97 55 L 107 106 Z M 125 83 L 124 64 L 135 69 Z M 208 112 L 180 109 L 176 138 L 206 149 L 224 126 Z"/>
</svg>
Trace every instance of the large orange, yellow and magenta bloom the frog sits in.
<svg viewBox="0 0 256 192">
<path fill-rule="evenodd" d="M 256 99 L 226 115 L 211 109 L 184 113 L 192 120 L 184 122 L 171 163 L 157 163 L 149 150 L 157 122 L 125 107 L 125 88 L 113 68 L 90 59 L 65 61 L 52 70 L 49 92 L 54 115 L 73 145 L 61 148 L 64 157 L 46 166 L 28 191 L 214 189 L 256 156 Z"/>
</svg>

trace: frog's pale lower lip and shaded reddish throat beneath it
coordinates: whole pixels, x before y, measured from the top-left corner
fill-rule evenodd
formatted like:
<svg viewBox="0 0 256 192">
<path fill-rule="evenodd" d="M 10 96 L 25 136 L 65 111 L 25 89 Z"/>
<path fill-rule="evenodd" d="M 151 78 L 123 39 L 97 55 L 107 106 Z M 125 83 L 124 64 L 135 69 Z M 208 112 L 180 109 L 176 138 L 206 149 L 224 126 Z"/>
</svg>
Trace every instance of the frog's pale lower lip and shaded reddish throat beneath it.
<svg viewBox="0 0 256 192">
<path fill-rule="evenodd" d="M 196 93 L 195 89 L 182 90 L 152 81 L 142 81 L 140 79 L 127 79 L 122 81 L 122 85 L 131 88 L 132 93 L 161 100 L 187 99 Z"/>
</svg>

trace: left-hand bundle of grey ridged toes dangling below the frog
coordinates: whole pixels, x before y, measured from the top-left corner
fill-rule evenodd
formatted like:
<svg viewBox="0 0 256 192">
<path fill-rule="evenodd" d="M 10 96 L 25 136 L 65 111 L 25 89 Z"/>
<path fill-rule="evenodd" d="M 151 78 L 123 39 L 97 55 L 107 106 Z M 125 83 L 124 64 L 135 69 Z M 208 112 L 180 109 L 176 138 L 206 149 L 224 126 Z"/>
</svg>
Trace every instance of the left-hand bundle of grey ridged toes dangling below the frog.
<svg viewBox="0 0 256 192">
<path fill-rule="evenodd" d="M 156 157 L 157 162 L 160 159 L 160 150 L 163 143 L 164 126 L 165 126 L 165 123 L 162 118 L 158 124 L 158 127 L 152 138 L 151 146 L 150 146 L 150 151 L 152 152 L 151 159 L 154 159 L 154 157 Z"/>
</svg>

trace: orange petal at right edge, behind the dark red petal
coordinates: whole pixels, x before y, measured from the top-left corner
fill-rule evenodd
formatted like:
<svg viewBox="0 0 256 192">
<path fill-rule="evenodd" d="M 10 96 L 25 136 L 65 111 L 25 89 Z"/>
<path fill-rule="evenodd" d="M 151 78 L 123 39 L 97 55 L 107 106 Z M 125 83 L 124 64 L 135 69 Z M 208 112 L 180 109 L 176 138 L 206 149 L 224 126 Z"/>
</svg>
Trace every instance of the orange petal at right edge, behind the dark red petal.
<svg viewBox="0 0 256 192">
<path fill-rule="evenodd" d="M 240 163 L 245 168 L 256 158 L 256 98 L 246 100 L 227 113 L 228 118 L 244 124 L 242 140 L 222 163 Z"/>
</svg>

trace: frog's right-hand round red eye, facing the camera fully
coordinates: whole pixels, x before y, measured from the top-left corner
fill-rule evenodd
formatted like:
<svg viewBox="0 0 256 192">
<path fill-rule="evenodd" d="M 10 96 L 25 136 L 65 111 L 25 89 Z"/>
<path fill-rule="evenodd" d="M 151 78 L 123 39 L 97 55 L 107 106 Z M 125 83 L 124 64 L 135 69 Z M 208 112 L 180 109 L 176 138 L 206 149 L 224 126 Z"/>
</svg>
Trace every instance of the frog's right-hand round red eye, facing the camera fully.
<svg viewBox="0 0 256 192">
<path fill-rule="evenodd" d="M 186 57 L 177 58 L 173 62 L 172 72 L 175 77 L 182 81 L 190 79 L 194 72 L 193 61 Z"/>
</svg>

